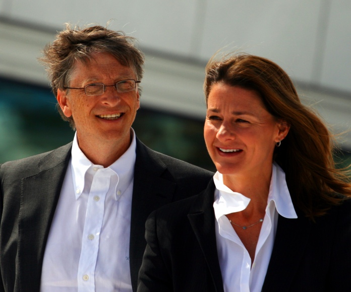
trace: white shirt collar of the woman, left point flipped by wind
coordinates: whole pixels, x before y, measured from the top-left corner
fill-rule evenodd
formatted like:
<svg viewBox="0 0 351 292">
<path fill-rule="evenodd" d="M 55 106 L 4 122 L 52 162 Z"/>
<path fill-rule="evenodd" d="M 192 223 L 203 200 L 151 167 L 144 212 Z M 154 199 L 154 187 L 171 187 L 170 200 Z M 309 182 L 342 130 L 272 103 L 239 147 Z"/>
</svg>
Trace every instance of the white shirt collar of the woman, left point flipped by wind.
<svg viewBox="0 0 351 292">
<path fill-rule="evenodd" d="M 223 214 L 239 212 L 248 206 L 250 198 L 241 193 L 233 192 L 225 186 L 223 184 L 223 175 L 221 173 L 217 171 L 213 180 L 217 189 L 213 204 L 217 220 Z M 276 163 L 273 163 L 272 165 L 272 177 L 269 187 L 267 207 L 270 205 L 269 203 L 271 201 L 274 201 L 278 213 L 283 217 L 298 217 L 286 185 L 285 173 Z"/>
</svg>

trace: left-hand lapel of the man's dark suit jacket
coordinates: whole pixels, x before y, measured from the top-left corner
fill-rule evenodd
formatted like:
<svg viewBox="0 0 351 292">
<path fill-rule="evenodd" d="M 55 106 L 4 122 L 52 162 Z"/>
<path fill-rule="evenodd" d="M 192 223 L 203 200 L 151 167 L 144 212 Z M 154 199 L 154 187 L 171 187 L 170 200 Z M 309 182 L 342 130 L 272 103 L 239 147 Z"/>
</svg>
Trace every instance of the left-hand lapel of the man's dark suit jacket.
<svg viewBox="0 0 351 292">
<path fill-rule="evenodd" d="M 37 174 L 22 179 L 18 257 L 21 291 L 39 290 L 46 240 L 71 147 L 72 143 L 49 153 L 40 160 Z"/>
</svg>

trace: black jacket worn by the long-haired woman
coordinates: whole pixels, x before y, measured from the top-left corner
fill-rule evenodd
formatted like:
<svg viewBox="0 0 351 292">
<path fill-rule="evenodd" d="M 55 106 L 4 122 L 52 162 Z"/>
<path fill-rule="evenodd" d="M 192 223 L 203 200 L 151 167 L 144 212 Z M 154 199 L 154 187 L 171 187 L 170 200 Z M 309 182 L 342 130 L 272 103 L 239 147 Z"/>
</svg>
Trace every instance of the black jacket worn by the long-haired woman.
<svg viewBox="0 0 351 292">
<path fill-rule="evenodd" d="M 214 182 L 198 196 L 154 211 L 146 222 L 138 292 L 223 291 L 217 256 Z M 295 207 L 297 210 L 297 208 Z M 308 220 L 279 215 L 263 291 L 351 291 L 351 204 Z M 238 290 L 232 287 L 231 291 Z"/>
</svg>

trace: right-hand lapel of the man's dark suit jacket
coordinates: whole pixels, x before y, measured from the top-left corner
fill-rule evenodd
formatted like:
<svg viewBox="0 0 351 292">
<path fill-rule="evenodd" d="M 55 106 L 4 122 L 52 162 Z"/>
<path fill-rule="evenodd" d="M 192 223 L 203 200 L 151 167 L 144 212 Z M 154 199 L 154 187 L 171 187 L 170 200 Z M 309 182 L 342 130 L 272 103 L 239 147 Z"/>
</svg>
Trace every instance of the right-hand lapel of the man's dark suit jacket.
<svg viewBox="0 0 351 292">
<path fill-rule="evenodd" d="M 166 165 L 157 153 L 137 138 L 131 215 L 130 268 L 132 284 L 137 283 L 146 246 L 145 222 L 149 214 L 171 202 L 175 190 L 172 177 L 163 178 Z M 133 291 L 137 287 L 133 286 Z"/>
</svg>

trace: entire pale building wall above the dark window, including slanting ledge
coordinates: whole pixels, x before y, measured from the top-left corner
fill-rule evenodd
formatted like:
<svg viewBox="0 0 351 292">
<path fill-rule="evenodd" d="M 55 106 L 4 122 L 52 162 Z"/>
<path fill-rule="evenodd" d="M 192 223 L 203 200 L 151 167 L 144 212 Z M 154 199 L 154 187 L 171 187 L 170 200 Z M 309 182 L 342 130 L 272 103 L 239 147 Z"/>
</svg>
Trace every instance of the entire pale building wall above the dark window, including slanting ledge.
<svg viewBox="0 0 351 292">
<path fill-rule="evenodd" d="M 0 0 L 0 74 L 47 84 L 36 57 L 54 31 L 113 19 L 110 28 L 147 52 L 142 106 L 203 118 L 204 65 L 225 47 L 276 61 L 310 88 L 304 94 L 327 122 L 347 130 L 350 15 L 349 0 Z M 350 133 L 346 143 L 351 149 Z"/>
</svg>

